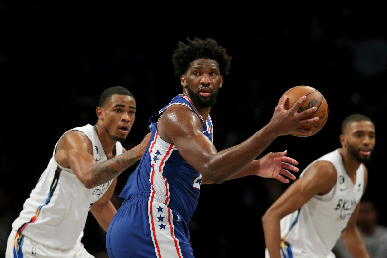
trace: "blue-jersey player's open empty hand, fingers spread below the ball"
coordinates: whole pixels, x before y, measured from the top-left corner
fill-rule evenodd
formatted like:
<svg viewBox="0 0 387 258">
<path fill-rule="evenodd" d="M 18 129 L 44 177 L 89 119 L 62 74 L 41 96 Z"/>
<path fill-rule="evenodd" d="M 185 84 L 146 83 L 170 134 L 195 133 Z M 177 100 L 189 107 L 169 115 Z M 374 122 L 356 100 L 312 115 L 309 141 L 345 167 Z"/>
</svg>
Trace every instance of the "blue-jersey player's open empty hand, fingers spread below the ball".
<svg viewBox="0 0 387 258">
<path fill-rule="evenodd" d="M 264 157 L 257 160 L 257 162 L 259 162 L 257 176 L 263 178 L 276 178 L 283 183 L 289 183 L 289 179 L 286 179 L 283 176 L 295 180 L 296 177 L 286 169 L 298 172 L 299 169 L 292 165 L 297 165 L 298 162 L 295 159 L 286 157 L 286 153 L 288 153 L 287 150 L 283 152 L 269 152 Z"/>
</svg>

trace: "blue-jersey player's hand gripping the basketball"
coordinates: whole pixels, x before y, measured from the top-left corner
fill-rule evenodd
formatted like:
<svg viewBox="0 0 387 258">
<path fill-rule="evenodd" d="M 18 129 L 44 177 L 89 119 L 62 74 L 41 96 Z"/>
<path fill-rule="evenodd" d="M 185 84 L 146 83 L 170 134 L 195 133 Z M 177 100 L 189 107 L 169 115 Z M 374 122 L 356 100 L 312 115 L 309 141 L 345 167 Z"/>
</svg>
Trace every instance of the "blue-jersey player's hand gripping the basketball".
<svg viewBox="0 0 387 258">
<path fill-rule="evenodd" d="M 274 130 L 277 135 L 287 135 L 293 132 L 303 134 L 312 133 L 309 130 L 303 129 L 301 125 L 310 125 L 319 121 L 318 117 L 304 119 L 305 117 L 313 114 L 317 110 L 317 107 L 309 108 L 301 113 L 297 113 L 297 110 L 306 99 L 306 96 L 302 96 L 289 110 L 285 110 L 284 106 L 286 99 L 287 97 L 284 96 L 284 98 L 278 103 L 268 125 L 271 126 L 272 130 Z"/>
</svg>

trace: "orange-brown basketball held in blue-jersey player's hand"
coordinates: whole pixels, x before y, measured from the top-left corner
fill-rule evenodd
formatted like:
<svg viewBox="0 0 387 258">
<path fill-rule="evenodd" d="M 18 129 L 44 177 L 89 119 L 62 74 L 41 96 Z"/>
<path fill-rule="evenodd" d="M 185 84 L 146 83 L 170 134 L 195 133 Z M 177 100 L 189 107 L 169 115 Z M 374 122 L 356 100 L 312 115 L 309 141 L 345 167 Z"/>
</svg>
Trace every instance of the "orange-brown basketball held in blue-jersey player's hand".
<svg viewBox="0 0 387 258">
<path fill-rule="evenodd" d="M 286 91 L 279 99 L 279 101 L 281 101 L 285 95 L 286 97 L 288 97 L 288 99 L 286 99 L 286 103 L 284 106 L 285 110 L 288 110 L 289 108 L 291 108 L 296 103 L 296 101 L 300 99 L 300 97 L 305 95 L 307 96 L 307 98 L 302 103 L 300 108 L 297 110 L 297 113 L 300 113 L 305 109 L 313 108 L 314 106 L 316 106 L 317 107 L 316 112 L 312 113 L 308 117 L 305 117 L 304 119 L 309 119 L 316 116 L 320 118 L 319 121 L 311 125 L 301 125 L 301 127 L 304 128 L 305 130 L 312 131 L 311 134 L 302 134 L 299 132 L 293 132 L 291 133 L 291 135 L 294 135 L 297 137 L 308 137 L 319 132 L 324 127 L 328 118 L 329 110 L 328 110 L 328 103 L 326 99 L 319 91 L 317 91 L 316 89 L 310 86 L 296 86 Z"/>
</svg>

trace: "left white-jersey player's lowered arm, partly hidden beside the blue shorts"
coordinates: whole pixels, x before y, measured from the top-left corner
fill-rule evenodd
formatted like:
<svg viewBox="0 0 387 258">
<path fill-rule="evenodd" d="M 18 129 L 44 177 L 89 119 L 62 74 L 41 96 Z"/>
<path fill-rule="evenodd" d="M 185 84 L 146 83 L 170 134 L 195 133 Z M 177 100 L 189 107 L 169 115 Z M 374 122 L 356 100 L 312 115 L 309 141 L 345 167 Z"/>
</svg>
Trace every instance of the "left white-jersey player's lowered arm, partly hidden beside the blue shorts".
<svg viewBox="0 0 387 258">
<path fill-rule="evenodd" d="M 117 212 L 113 203 L 110 201 L 116 187 L 116 182 L 117 179 L 114 179 L 108 190 L 101 198 L 99 198 L 97 202 L 93 204 L 90 209 L 91 214 L 94 216 L 104 231 L 108 231 L 109 224 Z"/>
</svg>

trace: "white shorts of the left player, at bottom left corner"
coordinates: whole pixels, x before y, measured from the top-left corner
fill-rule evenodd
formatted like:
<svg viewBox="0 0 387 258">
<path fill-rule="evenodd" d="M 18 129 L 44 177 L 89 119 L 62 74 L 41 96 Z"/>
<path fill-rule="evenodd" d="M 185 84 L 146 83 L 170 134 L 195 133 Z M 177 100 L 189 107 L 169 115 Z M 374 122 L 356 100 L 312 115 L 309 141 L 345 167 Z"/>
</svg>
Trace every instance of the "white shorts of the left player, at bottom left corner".
<svg viewBox="0 0 387 258">
<path fill-rule="evenodd" d="M 73 248 L 67 250 L 53 249 L 47 246 L 38 244 L 26 236 L 22 236 L 21 243 L 15 244 L 15 236 L 17 232 L 11 231 L 8 237 L 7 249 L 5 250 L 5 258 L 94 258 L 83 247 L 82 243 L 77 243 Z M 21 250 L 19 250 L 19 248 Z M 14 256 L 14 252 L 19 252 L 19 255 Z M 21 254 L 22 253 L 22 254 Z"/>
</svg>

